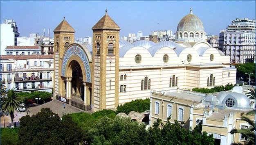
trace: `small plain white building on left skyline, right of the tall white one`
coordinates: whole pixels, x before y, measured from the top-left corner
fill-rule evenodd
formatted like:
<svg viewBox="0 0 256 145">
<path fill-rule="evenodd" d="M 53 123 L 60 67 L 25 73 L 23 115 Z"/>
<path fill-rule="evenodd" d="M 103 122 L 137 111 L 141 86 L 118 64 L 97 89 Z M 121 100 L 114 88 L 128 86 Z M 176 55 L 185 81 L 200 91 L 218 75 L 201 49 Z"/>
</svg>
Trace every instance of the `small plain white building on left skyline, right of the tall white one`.
<svg viewBox="0 0 256 145">
<path fill-rule="evenodd" d="M 22 36 L 17 37 L 17 45 L 18 46 L 34 46 L 36 42 L 36 33 L 29 33 L 29 37 Z"/>
</svg>

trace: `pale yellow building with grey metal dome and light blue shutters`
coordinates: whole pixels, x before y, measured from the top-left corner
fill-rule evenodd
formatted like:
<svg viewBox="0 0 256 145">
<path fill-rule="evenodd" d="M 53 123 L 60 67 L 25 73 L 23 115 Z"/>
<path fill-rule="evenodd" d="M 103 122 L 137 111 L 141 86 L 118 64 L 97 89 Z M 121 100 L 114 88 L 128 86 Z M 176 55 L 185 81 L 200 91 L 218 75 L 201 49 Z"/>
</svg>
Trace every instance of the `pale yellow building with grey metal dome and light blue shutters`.
<svg viewBox="0 0 256 145">
<path fill-rule="evenodd" d="M 240 118 L 249 110 L 252 103 L 243 93 L 241 87 L 234 87 L 230 92 L 218 95 L 185 90 L 152 92 L 150 97 L 150 125 L 157 120 L 184 122 L 184 127 L 193 129 L 202 123 L 202 132 L 213 134 L 217 144 L 230 145 L 234 142 L 245 143 L 241 134 L 230 134 L 236 128 L 248 128 L 249 124 Z M 255 119 L 254 115 L 247 116 Z"/>
</svg>

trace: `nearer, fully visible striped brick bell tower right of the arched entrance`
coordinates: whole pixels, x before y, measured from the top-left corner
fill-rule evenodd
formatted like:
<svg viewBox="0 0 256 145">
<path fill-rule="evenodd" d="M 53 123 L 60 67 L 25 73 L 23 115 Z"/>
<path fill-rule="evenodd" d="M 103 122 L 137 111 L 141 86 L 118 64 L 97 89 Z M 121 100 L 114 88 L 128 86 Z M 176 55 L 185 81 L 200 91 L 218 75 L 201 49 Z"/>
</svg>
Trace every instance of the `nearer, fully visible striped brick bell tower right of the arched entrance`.
<svg viewBox="0 0 256 145">
<path fill-rule="evenodd" d="M 119 31 L 106 14 L 92 27 L 92 96 L 94 111 L 118 106 Z"/>
</svg>

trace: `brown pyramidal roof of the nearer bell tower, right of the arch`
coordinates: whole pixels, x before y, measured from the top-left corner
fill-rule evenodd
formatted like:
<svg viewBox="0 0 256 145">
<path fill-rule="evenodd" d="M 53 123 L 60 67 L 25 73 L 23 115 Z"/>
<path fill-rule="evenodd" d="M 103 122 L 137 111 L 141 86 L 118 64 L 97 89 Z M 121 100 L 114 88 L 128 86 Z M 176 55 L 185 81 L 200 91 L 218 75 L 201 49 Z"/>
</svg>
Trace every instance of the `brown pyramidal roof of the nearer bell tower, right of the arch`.
<svg viewBox="0 0 256 145">
<path fill-rule="evenodd" d="M 120 30 L 121 28 L 111 19 L 108 15 L 108 11 L 106 10 L 106 14 L 97 22 L 93 27 L 94 29 L 115 29 Z"/>
</svg>

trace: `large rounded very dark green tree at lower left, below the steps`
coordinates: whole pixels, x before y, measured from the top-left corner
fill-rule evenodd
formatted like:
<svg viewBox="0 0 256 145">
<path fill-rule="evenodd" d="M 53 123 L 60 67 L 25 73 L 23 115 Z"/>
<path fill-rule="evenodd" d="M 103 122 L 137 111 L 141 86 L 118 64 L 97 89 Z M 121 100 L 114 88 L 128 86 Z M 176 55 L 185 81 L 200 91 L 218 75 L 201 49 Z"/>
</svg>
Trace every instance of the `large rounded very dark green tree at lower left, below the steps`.
<svg viewBox="0 0 256 145">
<path fill-rule="evenodd" d="M 61 120 L 49 108 L 42 108 L 36 115 L 20 119 L 18 130 L 19 144 L 26 145 L 71 145 L 78 144 L 82 137 L 81 129 L 71 117 Z"/>
</svg>

